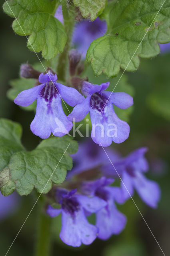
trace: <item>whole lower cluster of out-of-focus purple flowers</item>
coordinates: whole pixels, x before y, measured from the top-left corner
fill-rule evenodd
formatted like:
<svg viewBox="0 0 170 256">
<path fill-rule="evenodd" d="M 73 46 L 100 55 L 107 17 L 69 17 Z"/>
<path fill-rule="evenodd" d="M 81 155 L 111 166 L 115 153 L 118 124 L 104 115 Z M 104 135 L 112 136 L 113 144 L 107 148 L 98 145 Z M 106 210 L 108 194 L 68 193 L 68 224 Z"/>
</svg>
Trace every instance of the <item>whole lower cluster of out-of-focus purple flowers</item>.
<svg viewBox="0 0 170 256">
<path fill-rule="evenodd" d="M 116 203 L 126 202 L 133 196 L 134 188 L 146 204 L 152 208 L 157 206 L 160 188 L 144 176 L 148 170 L 145 152 L 146 148 L 139 148 L 123 158 L 112 150 L 105 154 L 92 141 L 80 144 L 80 150 L 72 156 L 74 168 L 67 176 L 65 188 L 55 189 L 55 203 L 60 208 L 49 205 L 47 209 L 51 217 L 62 214 L 60 238 L 64 243 L 91 244 L 97 237 L 106 240 L 122 232 L 126 216 L 117 209 Z M 117 178 L 121 179 L 120 187 L 113 186 Z M 90 224 L 88 216 L 92 213 L 96 214 L 96 223 Z"/>
</svg>

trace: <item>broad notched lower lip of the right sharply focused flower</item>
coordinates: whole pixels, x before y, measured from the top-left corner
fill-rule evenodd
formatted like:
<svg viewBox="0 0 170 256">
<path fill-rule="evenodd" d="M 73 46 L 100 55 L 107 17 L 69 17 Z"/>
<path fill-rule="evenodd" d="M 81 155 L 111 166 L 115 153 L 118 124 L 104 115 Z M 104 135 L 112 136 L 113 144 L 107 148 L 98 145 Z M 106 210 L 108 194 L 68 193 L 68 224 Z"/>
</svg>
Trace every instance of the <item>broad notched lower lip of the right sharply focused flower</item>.
<svg viewBox="0 0 170 256">
<path fill-rule="evenodd" d="M 99 146 L 108 147 L 112 141 L 122 143 L 129 136 L 129 125 L 116 116 L 112 104 L 106 105 L 102 113 L 91 108 L 90 118 L 92 122 L 91 137 Z"/>
</svg>

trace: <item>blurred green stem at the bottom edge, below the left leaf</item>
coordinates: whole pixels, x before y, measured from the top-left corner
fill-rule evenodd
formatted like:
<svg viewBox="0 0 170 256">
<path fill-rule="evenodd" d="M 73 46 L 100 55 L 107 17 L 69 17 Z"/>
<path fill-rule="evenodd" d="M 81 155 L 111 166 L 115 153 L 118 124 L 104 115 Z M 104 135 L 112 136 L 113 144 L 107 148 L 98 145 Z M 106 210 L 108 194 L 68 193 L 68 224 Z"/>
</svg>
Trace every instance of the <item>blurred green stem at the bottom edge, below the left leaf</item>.
<svg viewBox="0 0 170 256">
<path fill-rule="evenodd" d="M 38 230 L 35 256 L 50 256 L 51 223 L 52 218 L 44 211 L 44 200 L 40 199 L 38 209 Z"/>
</svg>

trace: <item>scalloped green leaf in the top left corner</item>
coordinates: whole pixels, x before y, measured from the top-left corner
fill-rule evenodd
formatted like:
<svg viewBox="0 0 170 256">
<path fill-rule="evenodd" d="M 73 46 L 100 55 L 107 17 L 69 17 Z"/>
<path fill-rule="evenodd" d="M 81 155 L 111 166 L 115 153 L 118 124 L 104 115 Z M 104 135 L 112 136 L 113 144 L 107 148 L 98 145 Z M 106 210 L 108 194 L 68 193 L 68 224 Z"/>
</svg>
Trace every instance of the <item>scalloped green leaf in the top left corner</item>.
<svg viewBox="0 0 170 256">
<path fill-rule="evenodd" d="M 20 36 L 29 36 L 28 48 L 51 59 L 63 52 L 66 33 L 62 23 L 54 17 L 58 0 L 8 0 L 4 12 L 15 19 L 12 28 Z M 11 8 L 11 9 L 10 9 Z"/>
</svg>

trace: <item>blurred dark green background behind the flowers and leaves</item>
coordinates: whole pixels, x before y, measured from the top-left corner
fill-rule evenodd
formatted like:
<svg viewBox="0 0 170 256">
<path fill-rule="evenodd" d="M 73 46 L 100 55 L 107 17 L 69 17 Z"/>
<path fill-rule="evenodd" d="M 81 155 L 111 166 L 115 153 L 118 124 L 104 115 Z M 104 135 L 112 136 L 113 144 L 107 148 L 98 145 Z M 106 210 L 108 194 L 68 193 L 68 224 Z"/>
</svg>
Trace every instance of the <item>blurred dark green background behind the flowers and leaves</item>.
<svg viewBox="0 0 170 256">
<path fill-rule="evenodd" d="M 30 123 L 34 118 L 33 111 L 24 111 L 6 97 L 10 88 L 9 80 L 18 78 L 20 64 L 29 61 L 37 62 L 37 56 L 26 48 L 26 38 L 15 35 L 12 31 L 12 18 L 2 12 L 1 26 L 1 62 L 0 62 L 0 117 L 20 122 L 23 127 L 22 142 L 28 150 L 35 148 L 40 142 L 30 131 Z M 41 54 L 39 54 L 41 57 Z M 94 78 L 90 68 L 85 72 L 91 82 L 107 80 L 104 76 Z M 84 74 L 85 75 L 85 74 Z M 112 79 L 114 88 L 118 78 Z M 127 87 L 126 87 L 127 85 Z M 132 110 L 119 113 L 130 124 L 130 136 L 122 144 L 112 144 L 123 155 L 141 146 L 147 146 L 147 158 L 150 163 L 148 178 L 156 180 L 161 187 L 162 197 L 158 209 L 146 206 L 137 195 L 134 196 L 138 208 L 158 240 L 166 255 L 170 255 L 170 53 L 161 54 L 152 60 L 141 60 L 140 68 L 135 73 L 127 73 L 118 84 L 116 90 L 126 87 L 134 96 Z M 124 91 L 126 91 L 124 89 Z M 129 92 L 129 93 L 130 93 Z M 126 112 L 126 113 L 125 113 Z M 78 140 L 80 138 L 77 138 Z M 5 255 L 10 244 L 22 226 L 25 218 L 36 201 L 34 192 L 23 196 L 18 210 L 10 217 L 0 220 L 0 255 Z M 2 207 L 0 205 L 0 207 Z M 81 256 L 160 256 L 162 252 L 151 232 L 144 223 L 132 200 L 118 207 L 128 218 L 125 230 L 119 236 L 112 236 L 107 241 L 96 239 L 90 246 L 71 248 L 63 244 L 59 237 L 60 219 L 56 218 L 52 228 L 52 255 Z M 8 255 L 33 255 L 36 241 L 37 207 L 30 214 L 18 238 Z"/>
</svg>

